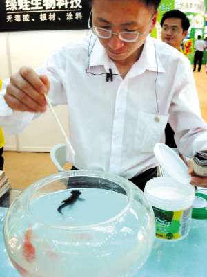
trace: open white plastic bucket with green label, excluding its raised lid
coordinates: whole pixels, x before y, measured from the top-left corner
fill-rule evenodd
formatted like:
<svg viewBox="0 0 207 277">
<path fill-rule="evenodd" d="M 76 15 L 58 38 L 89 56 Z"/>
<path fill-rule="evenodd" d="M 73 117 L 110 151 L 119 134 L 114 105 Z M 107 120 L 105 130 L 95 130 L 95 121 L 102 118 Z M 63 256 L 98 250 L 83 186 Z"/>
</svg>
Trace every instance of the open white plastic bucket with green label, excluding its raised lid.
<svg viewBox="0 0 207 277">
<path fill-rule="evenodd" d="M 181 240 L 190 231 L 193 186 L 172 177 L 157 177 L 146 183 L 144 193 L 155 213 L 156 237 L 161 240 Z"/>
</svg>

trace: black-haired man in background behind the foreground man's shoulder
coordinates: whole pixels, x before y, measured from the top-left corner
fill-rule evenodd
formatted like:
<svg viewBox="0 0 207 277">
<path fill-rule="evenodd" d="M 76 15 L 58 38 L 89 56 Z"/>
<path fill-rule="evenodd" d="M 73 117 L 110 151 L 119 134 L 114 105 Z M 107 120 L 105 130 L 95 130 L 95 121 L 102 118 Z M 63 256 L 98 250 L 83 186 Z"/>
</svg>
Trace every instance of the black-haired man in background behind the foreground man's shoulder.
<svg viewBox="0 0 207 277">
<path fill-rule="evenodd" d="M 183 53 L 181 49 L 181 42 L 188 35 L 188 28 L 190 27 L 190 21 L 180 10 L 170 10 L 164 13 L 161 19 L 161 40 L 166 42 L 170 46 Z M 166 145 L 170 148 L 177 148 L 174 135 L 175 132 L 168 123 L 165 129 L 166 133 Z"/>
</svg>

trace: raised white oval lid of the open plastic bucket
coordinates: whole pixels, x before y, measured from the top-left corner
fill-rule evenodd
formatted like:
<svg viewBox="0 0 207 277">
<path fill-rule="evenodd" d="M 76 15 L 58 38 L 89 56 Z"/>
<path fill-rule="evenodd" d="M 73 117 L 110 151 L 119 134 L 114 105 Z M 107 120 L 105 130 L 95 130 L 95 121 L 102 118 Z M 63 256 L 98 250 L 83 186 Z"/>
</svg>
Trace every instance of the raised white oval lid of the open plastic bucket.
<svg viewBox="0 0 207 277">
<path fill-rule="evenodd" d="M 154 147 L 155 157 L 160 165 L 177 181 L 190 183 L 187 166 L 179 155 L 164 143 L 156 143 Z"/>
</svg>

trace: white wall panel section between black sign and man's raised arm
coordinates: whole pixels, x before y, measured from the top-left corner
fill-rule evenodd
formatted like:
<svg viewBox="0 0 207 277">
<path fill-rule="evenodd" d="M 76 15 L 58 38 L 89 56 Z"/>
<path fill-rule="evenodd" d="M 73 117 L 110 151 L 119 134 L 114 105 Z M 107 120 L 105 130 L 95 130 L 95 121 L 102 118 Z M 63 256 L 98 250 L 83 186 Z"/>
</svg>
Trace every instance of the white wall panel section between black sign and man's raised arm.
<svg viewBox="0 0 207 277">
<path fill-rule="evenodd" d="M 40 66 L 55 48 L 84 35 L 84 30 L 9 33 L 12 74 L 17 73 L 21 66 Z"/>
</svg>

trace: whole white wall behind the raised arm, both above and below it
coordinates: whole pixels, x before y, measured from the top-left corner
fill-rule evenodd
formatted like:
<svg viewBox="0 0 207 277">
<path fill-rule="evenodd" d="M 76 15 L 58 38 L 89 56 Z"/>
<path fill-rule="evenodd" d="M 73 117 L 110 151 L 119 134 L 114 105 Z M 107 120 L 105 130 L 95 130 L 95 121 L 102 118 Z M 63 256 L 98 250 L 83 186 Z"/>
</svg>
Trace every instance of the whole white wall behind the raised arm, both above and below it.
<svg viewBox="0 0 207 277">
<path fill-rule="evenodd" d="M 9 78 L 10 75 L 17 73 L 21 66 L 35 68 L 41 65 L 57 46 L 84 37 L 89 33 L 88 30 L 0 33 L 0 78 Z M 67 106 L 55 107 L 55 111 L 68 135 Z M 5 150 L 25 152 L 50 152 L 52 146 L 65 143 L 49 109 L 32 121 L 23 133 L 5 136 L 5 139 Z"/>
</svg>

